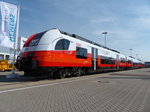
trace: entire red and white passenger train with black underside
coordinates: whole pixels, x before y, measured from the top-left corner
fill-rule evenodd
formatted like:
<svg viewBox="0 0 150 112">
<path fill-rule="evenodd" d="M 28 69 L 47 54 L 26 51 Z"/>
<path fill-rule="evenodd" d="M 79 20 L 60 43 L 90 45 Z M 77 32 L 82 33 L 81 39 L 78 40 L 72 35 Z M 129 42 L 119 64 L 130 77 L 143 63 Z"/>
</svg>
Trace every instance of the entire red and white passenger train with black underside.
<svg viewBox="0 0 150 112">
<path fill-rule="evenodd" d="M 50 29 L 26 41 L 15 65 L 26 76 L 67 77 L 142 68 L 144 62 L 78 35 Z"/>
</svg>

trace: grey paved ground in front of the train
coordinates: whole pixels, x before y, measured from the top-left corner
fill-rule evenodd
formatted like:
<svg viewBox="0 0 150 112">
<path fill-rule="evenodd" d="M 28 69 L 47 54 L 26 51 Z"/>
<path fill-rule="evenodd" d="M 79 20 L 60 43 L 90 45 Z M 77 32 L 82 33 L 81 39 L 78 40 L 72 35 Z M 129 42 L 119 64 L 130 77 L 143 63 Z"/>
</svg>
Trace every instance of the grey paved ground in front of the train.
<svg viewBox="0 0 150 112">
<path fill-rule="evenodd" d="M 6 74 L 0 73 L 0 112 L 150 112 L 150 69 L 59 80 Z"/>
</svg>

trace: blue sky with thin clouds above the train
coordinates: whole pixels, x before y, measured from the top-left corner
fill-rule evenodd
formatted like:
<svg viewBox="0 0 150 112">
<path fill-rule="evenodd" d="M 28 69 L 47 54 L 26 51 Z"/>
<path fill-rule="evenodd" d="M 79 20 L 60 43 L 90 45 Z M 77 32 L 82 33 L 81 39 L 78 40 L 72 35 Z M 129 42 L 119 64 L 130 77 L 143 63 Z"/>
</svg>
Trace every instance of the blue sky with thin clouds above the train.
<svg viewBox="0 0 150 112">
<path fill-rule="evenodd" d="M 59 28 L 150 61 L 149 0 L 3 0 L 20 5 L 19 35 Z"/>
</svg>

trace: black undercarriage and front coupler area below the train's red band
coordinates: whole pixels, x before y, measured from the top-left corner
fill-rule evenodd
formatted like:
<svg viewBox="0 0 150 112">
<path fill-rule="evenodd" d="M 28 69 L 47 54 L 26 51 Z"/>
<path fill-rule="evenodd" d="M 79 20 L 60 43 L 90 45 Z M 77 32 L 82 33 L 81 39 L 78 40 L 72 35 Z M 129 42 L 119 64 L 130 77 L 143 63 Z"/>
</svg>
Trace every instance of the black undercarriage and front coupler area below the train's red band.
<svg viewBox="0 0 150 112">
<path fill-rule="evenodd" d="M 39 67 L 38 61 L 34 61 L 32 60 L 32 58 L 17 59 L 15 66 L 18 70 L 24 71 L 24 76 L 44 76 L 53 79 L 125 69 L 125 68 L 121 69 L 118 67 L 93 67 L 93 66 L 92 67 Z"/>
</svg>

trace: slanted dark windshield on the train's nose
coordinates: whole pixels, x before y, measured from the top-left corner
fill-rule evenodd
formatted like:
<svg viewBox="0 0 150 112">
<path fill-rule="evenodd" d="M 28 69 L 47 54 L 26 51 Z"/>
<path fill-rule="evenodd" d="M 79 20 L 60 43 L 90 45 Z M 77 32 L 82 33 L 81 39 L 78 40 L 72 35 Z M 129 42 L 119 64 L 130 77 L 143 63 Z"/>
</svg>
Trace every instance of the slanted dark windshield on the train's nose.
<svg viewBox="0 0 150 112">
<path fill-rule="evenodd" d="M 38 33 L 37 35 L 34 36 L 34 38 L 31 40 L 29 46 L 37 46 L 40 39 L 42 38 L 42 36 L 45 34 L 46 32 L 41 32 Z"/>
</svg>

